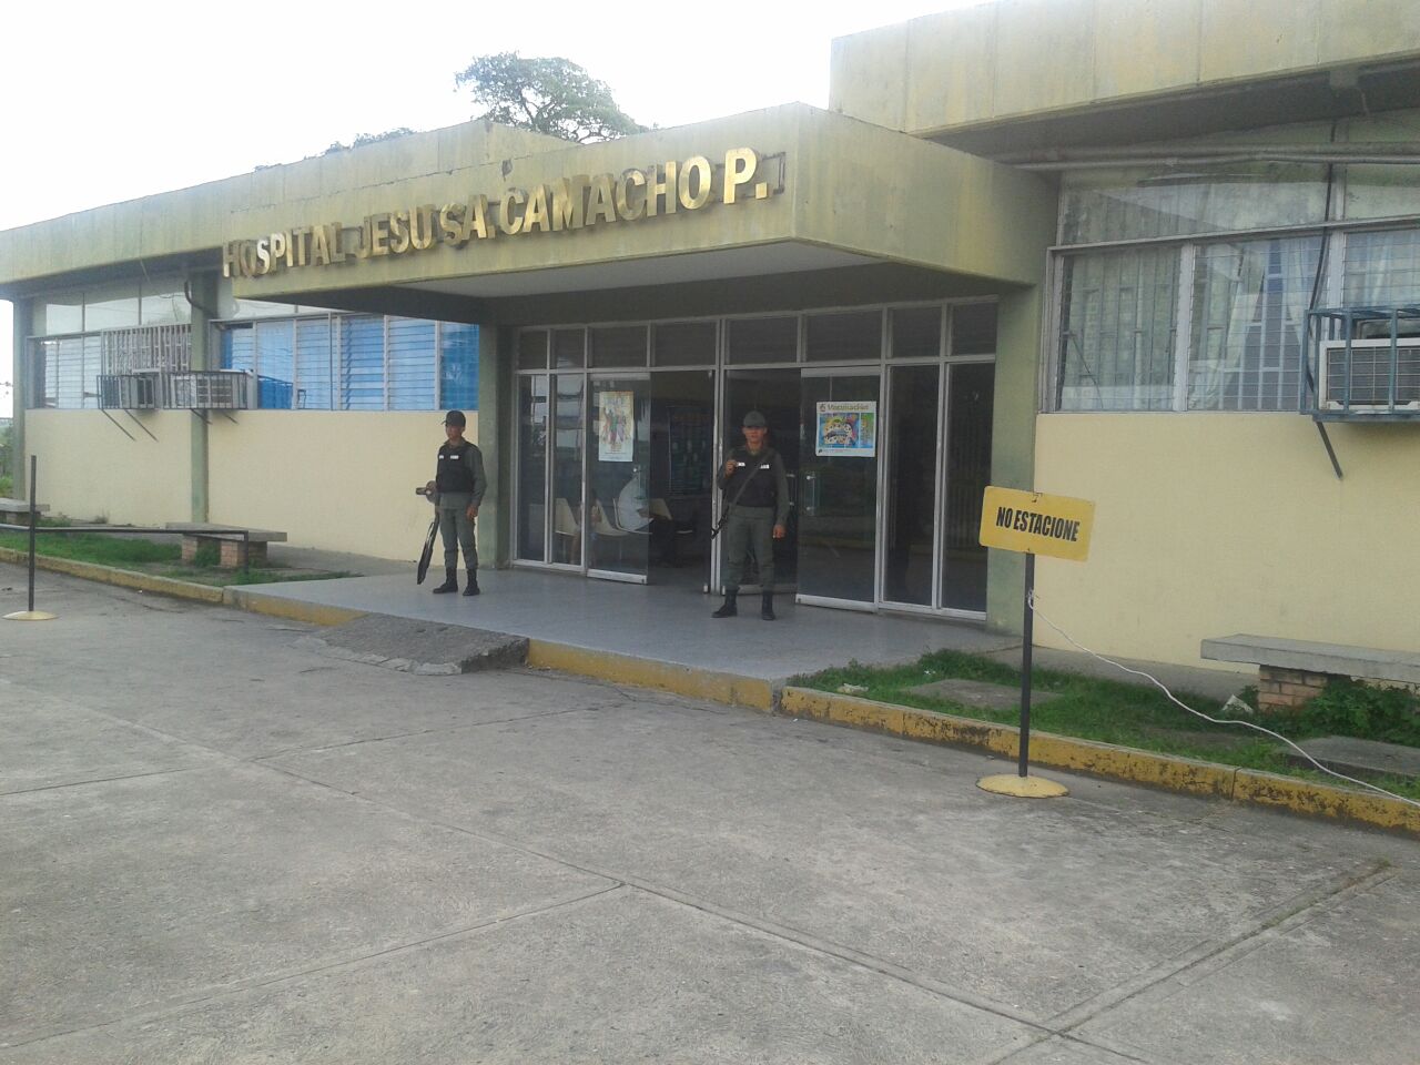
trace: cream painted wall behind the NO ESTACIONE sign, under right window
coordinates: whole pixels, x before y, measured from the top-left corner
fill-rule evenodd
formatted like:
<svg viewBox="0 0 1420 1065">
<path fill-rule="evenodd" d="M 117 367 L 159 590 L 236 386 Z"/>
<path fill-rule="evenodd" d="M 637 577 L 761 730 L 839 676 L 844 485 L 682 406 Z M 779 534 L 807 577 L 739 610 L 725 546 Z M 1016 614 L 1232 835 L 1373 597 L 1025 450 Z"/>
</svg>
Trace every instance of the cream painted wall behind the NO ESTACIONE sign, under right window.
<svg viewBox="0 0 1420 1065">
<path fill-rule="evenodd" d="M 1343 480 L 1299 415 L 1039 416 L 1035 487 L 1096 504 L 1088 562 L 1039 559 L 1039 609 L 1102 653 L 1216 669 L 1198 642 L 1233 633 L 1420 649 L 1420 425 L 1329 432 Z"/>
</svg>

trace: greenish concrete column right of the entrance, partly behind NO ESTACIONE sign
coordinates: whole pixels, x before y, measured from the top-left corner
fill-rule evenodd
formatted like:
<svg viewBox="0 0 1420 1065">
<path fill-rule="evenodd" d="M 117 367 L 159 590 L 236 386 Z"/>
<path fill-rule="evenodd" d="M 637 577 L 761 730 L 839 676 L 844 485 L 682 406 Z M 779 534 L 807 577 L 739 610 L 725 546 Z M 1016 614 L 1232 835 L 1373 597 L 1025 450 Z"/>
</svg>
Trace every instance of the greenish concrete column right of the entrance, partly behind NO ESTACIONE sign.
<svg viewBox="0 0 1420 1065">
<path fill-rule="evenodd" d="M 1035 417 L 1039 395 L 1039 287 L 1001 294 L 995 324 L 995 410 L 991 425 L 991 484 L 1035 488 Z M 988 552 L 987 626 L 1021 632 L 1025 555 Z"/>
</svg>

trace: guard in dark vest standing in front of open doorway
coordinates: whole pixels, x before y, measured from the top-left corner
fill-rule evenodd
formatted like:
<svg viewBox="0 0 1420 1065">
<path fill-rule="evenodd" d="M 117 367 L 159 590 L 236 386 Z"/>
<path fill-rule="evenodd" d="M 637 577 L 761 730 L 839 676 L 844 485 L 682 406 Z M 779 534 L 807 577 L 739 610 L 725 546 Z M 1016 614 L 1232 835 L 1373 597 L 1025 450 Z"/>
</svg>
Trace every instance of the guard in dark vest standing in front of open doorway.
<svg viewBox="0 0 1420 1065">
<path fill-rule="evenodd" d="M 760 616 L 774 621 L 774 541 L 785 535 L 790 483 L 784 460 L 764 439 L 770 423 L 758 410 L 744 416 L 744 447 L 731 449 L 716 477 L 724 491 L 724 602 L 711 618 L 733 618 L 746 564 L 760 572 Z"/>
</svg>

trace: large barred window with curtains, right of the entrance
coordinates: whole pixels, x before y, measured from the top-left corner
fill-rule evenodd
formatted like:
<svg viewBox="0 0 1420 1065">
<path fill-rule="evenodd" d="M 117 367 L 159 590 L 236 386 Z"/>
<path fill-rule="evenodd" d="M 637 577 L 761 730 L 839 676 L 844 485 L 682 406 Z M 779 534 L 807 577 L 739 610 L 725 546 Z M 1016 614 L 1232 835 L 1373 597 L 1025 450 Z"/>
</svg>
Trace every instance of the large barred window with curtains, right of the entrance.
<svg viewBox="0 0 1420 1065">
<path fill-rule="evenodd" d="M 1420 229 L 1100 248 L 1056 270 L 1054 409 L 1296 410 L 1314 302 L 1420 302 Z"/>
</svg>

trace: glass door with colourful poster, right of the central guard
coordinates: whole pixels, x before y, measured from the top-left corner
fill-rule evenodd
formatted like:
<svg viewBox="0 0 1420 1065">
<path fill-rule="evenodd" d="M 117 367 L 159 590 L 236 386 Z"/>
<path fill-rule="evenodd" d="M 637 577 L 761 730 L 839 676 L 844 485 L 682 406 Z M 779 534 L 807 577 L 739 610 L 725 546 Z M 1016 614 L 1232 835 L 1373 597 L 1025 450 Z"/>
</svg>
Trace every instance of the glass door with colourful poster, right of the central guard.
<svg viewBox="0 0 1420 1065">
<path fill-rule="evenodd" d="M 876 601 L 878 412 L 873 373 L 804 372 L 799 386 L 801 601 Z"/>
</svg>

